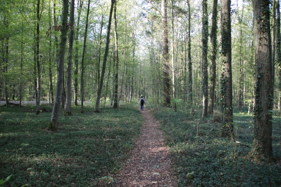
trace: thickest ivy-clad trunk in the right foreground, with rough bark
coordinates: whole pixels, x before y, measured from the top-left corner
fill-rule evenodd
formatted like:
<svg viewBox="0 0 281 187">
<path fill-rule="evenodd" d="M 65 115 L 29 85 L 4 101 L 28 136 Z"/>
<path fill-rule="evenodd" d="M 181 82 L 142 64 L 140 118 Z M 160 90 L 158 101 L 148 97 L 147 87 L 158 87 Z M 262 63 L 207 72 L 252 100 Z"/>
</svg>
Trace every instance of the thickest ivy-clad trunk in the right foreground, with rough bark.
<svg viewBox="0 0 281 187">
<path fill-rule="evenodd" d="M 272 65 L 270 1 L 253 1 L 255 41 L 255 117 L 252 153 L 268 161 L 272 158 Z"/>
</svg>

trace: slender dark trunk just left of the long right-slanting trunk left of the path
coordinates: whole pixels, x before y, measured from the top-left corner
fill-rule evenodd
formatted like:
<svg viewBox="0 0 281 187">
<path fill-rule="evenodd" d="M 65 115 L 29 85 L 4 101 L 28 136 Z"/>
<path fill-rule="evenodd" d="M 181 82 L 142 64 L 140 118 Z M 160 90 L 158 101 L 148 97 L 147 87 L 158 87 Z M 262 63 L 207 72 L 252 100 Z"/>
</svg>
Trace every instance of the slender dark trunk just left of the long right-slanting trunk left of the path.
<svg viewBox="0 0 281 187">
<path fill-rule="evenodd" d="M 85 26 L 85 34 L 84 34 L 84 45 L 83 45 L 82 60 L 81 60 L 81 113 L 84 113 L 84 58 L 85 58 L 85 50 L 86 50 L 89 11 L 90 11 L 90 0 L 88 0 L 86 26 Z"/>
</svg>

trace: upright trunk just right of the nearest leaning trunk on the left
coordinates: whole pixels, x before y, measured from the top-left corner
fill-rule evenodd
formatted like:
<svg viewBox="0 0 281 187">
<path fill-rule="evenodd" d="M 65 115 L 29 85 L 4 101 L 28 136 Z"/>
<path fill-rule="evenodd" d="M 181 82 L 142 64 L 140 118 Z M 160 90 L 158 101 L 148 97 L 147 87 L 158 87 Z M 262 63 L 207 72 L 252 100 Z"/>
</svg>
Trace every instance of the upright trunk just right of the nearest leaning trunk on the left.
<svg viewBox="0 0 281 187">
<path fill-rule="evenodd" d="M 74 5 L 75 0 L 71 0 L 71 10 L 69 12 L 69 26 L 70 33 L 68 36 L 68 56 L 67 56 L 67 77 L 66 77 L 66 102 L 65 115 L 71 116 L 71 101 L 72 101 L 72 49 L 74 39 Z"/>
</svg>

